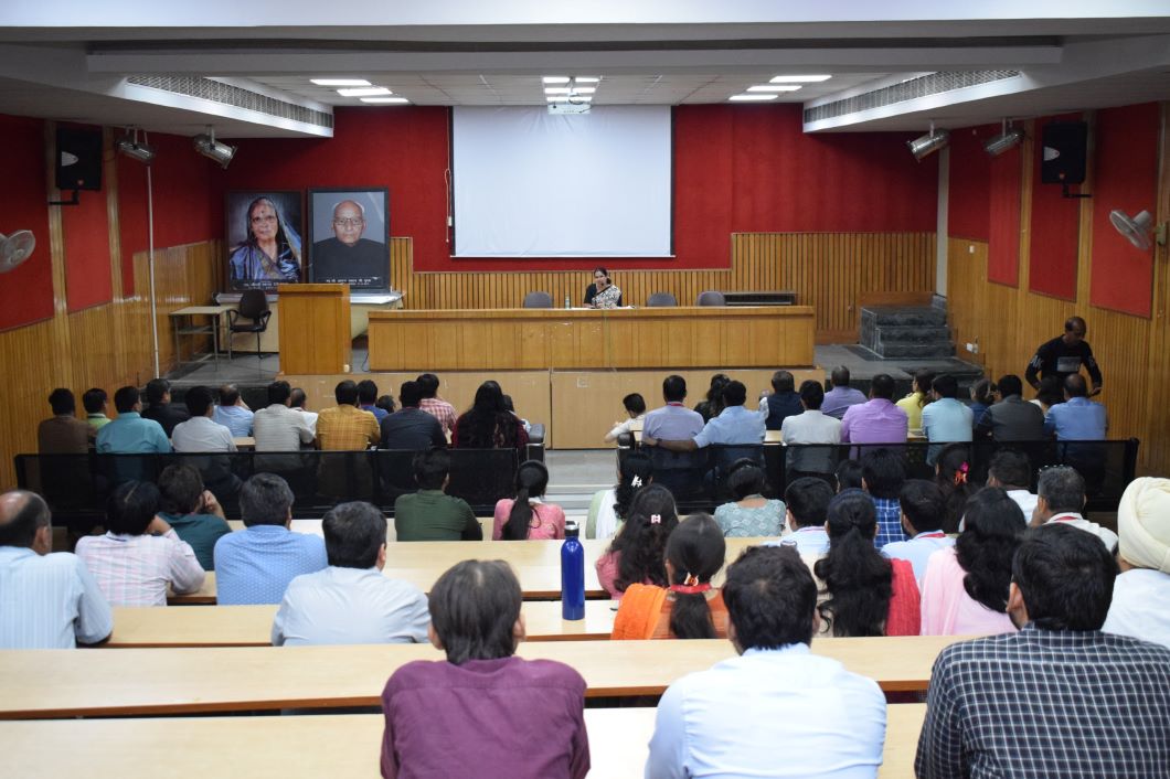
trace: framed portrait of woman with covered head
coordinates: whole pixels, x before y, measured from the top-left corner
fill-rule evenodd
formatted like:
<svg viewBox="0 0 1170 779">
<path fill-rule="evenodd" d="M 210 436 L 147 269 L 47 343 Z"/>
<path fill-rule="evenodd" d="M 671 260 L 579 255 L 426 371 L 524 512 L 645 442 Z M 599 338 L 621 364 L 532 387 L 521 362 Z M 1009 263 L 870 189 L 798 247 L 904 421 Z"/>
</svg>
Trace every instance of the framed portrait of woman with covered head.
<svg viewBox="0 0 1170 779">
<path fill-rule="evenodd" d="M 262 289 L 304 281 L 300 191 L 228 192 L 223 204 L 227 288 Z"/>
</svg>

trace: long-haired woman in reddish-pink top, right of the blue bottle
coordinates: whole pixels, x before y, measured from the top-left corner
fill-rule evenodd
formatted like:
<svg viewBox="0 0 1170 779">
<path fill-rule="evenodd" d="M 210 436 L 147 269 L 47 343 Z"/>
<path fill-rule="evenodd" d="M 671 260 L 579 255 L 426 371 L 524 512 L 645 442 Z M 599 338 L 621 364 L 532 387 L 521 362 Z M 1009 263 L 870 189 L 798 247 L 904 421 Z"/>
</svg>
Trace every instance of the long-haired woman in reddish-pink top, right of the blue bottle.
<svg viewBox="0 0 1170 779">
<path fill-rule="evenodd" d="M 679 525 L 674 496 L 661 484 L 638 490 L 629 517 L 610 549 L 597 559 L 597 579 L 614 600 L 632 584 L 666 587 L 666 539 Z"/>
</svg>

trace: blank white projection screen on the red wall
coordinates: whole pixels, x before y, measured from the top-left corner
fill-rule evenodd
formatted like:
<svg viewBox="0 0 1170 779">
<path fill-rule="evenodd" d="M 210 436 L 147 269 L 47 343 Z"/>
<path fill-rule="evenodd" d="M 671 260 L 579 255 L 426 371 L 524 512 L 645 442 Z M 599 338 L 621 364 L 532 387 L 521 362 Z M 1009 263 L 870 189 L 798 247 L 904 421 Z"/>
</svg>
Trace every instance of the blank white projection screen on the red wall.
<svg viewBox="0 0 1170 779">
<path fill-rule="evenodd" d="M 454 109 L 456 257 L 672 255 L 670 106 Z"/>
</svg>

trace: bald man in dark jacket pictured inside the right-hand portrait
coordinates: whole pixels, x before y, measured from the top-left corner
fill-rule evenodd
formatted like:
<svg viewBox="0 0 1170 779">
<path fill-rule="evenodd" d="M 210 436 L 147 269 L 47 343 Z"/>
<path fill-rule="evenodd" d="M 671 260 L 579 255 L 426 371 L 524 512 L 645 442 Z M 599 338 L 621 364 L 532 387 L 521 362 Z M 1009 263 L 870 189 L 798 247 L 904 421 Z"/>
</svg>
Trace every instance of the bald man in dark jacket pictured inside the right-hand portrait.
<svg viewBox="0 0 1170 779">
<path fill-rule="evenodd" d="M 385 243 L 362 237 L 366 228 L 362 204 L 343 200 L 333 206 L 332 227 L 333 237 L 312 244 L 312 281 L 385 288 L 390 251 Z"/>
</svg>

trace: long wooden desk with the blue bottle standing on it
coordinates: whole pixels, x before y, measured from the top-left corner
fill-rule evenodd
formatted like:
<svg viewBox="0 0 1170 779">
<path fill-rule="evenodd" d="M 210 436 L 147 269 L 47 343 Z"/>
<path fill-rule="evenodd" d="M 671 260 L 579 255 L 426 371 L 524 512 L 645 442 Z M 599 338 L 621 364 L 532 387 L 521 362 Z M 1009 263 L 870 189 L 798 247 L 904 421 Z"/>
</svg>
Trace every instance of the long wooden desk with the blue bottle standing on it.
<svg viewBox="0 0 1170 779">
<path fill-rule="evenodd" d="M 524 604 L 529 641 L 599 641 L 613 632 L 613 601 L 585 601 L 585 619 L 560 619 L 559 600 Z M 113 609 L 113 635 L 104 644 L 140 647 L 267 647 L 276 606 L 184 606 Z"/>
</svg>

